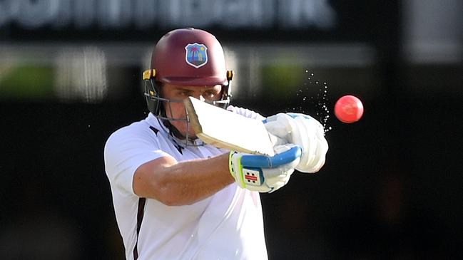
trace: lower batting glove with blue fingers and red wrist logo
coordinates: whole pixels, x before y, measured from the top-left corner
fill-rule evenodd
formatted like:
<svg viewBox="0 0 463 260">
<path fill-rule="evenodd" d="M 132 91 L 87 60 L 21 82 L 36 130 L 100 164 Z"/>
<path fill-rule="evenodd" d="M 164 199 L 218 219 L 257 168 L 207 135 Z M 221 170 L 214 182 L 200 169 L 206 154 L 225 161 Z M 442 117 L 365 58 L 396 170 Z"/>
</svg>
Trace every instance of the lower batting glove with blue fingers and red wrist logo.
<svg viewBox="0 0 463 260">
<path fill-rule="evenodd" d="M 250 155 L 230 152 L 228 165 L 238 186 L 255 192 L 275 192 L 290 180 L 299 164 L 302 150 L 297 145 L 275 147 L 276 155 Z"/>
</svg>

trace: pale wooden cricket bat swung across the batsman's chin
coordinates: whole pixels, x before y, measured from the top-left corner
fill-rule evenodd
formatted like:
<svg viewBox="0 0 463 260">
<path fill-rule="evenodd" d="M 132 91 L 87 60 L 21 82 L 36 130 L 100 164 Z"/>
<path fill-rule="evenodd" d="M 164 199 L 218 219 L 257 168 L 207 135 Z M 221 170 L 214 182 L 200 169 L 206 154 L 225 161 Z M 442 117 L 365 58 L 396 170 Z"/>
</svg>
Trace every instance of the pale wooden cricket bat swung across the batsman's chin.
<svg viewBox="0 0 463 260">
<path fill-rule="evenodd" d="M 246 118 L 193 97 L 183 103 L 190 125 L 203 142 L 253 155 L 274 155 L 270 136 L 260 120 Z"/>
</svg>

